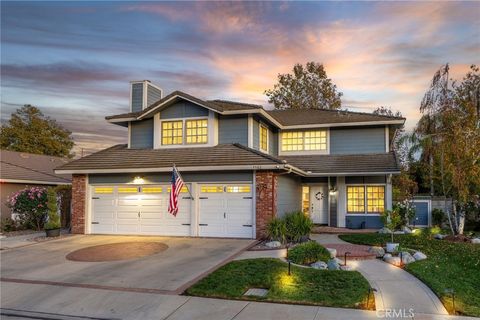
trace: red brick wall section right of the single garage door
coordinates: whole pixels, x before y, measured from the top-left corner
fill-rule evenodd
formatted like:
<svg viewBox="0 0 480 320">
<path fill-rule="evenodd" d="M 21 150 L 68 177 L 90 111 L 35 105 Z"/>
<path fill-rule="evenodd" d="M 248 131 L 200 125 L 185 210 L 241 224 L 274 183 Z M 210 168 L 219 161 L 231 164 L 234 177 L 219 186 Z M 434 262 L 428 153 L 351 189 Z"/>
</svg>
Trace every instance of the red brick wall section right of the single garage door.
<svg viewBox="0 0 480 320">
<path fill-rule="evenodd" d="M 256 182 L 256 237 L 265 237 L 268 221 L 276 215 L 278 178 L 272 171 L 257 171 Z"/>
</svg>

